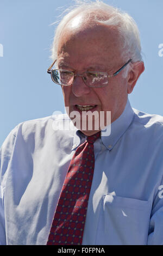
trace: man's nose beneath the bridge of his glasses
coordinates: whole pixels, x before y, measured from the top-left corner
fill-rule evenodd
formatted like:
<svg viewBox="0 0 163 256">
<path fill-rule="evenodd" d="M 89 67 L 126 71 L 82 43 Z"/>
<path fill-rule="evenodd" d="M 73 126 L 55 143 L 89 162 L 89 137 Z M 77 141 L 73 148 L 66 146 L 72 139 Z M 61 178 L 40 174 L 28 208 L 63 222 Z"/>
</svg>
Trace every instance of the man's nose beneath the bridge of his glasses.
<svg viewBox="0 0 163 256">
<path fill-rule="evenodd" d="M 72 93 L 76 97 L 83 96 L 90 93 L 90 87 L 86 86 L 83 81 L 82 75 L 76 75 L 72 84 Z"/>
</svg>

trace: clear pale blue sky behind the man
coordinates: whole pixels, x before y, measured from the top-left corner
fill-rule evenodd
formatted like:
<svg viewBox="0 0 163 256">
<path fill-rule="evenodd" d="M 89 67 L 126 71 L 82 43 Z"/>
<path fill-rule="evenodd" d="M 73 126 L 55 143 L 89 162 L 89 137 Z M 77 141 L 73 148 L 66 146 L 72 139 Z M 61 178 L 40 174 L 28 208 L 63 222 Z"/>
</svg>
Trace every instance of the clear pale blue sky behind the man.
<svg viewBox="0 0 163 256">
<path fill-rule="evenodd" d="M 131 106 L 163 115 L 162 0 L 105 0 L 127 11 L 140 31 L 145 72 L 132 94 Z M 0 147 L 22 121 L 65 112 L 61 88 L 46 70 L 51 65 L 51 45 L 58 17 L 70 0 L 0 0 Z M 163 51 L 162 51 L 163 53 Z M 1 54 L 2 55 L 2 54 Z"/>
</svg>

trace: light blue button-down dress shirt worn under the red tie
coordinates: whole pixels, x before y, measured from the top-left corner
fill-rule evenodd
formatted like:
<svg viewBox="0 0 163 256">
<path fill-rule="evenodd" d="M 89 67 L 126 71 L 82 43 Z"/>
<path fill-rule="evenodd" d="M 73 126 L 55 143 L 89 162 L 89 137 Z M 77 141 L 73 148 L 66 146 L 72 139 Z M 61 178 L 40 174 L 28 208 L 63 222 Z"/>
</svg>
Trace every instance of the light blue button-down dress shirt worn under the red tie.
<svg viewBox="0 0 163 256">
<path fill-rule="evenodd" d="M 74 151 L 85 136 L 61 118 L 18 124 L 0 155 L 1 245 L 46 245 Z M 163 118 L 131 108 L 94 144 L 83 245 L 163 245 Z"/>
</svg>

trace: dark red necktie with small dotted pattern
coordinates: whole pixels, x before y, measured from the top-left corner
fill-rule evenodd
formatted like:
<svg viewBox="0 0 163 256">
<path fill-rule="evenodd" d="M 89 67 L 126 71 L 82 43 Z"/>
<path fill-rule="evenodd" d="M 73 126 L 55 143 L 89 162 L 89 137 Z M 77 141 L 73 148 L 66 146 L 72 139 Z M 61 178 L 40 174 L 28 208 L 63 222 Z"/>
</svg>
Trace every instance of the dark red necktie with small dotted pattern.
<svg viewBox="0 0 163 256">
<path fill-rule="evenodd" d="M 95 156 L 93 143 L 101 132 L 88 136 L 74 153 L 55 210 L 47 245 L 82 245 Z"/>
</svg>

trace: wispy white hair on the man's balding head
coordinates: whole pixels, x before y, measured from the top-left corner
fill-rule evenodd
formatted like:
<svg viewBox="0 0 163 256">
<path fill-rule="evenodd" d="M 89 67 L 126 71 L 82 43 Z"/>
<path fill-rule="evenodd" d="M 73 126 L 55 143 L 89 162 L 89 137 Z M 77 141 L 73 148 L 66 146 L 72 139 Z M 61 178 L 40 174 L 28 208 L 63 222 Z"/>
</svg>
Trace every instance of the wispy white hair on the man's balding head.
<svg viewBox="0 0 163 256">
<path fill-rule="evenodd" d="M 99 0 L 95 0 L 95 2 L 77 0 L 76 4 L 66 11 L 68 13 L 62 18 L 55 31 L 51 56 L 53 60 L 57 59 L 60 35 L 66 24 L 80 13 L 88 13 L 87 20 L 93 17 L 95 22 L 117 28 L 122 58 L 126 59 L 126 61 L 128 60 L 127 58 L 131 58 L 132 62 L 142 61 L 139 29 L 129 14 Z M 125 68 L 126 71 L 129 66 L 126 67 L 127 69 Z"/>
</svg>

